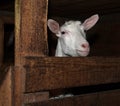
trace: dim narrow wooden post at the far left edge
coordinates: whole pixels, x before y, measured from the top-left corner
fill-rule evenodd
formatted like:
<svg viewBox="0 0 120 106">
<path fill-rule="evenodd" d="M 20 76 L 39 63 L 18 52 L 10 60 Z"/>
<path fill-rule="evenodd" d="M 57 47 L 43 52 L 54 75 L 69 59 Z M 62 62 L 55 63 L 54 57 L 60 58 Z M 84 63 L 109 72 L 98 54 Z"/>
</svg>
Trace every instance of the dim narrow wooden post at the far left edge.
<svg viewBox="0 0 120 106">
<path fill-rule="evenodd" d="M 3 62 L 4 56 L 4 24 L 3 21 L 0 19 L 0 65 Z"/>
</svg>

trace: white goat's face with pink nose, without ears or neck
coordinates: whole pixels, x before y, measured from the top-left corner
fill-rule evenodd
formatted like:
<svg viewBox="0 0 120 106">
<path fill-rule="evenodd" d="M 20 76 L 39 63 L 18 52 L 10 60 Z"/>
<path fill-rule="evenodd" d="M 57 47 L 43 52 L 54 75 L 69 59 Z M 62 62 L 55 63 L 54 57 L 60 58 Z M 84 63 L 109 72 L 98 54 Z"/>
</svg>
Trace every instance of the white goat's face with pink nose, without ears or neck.
<svg viewBox="0 0 120 106">
<path fill-rule="evenodd" d="M 57 36 L 64 54 L 69 56 L 87 56 L 89 54 L 89 43 L 80 21 L 66 22 L 60 27 Z"/>
</svg>

